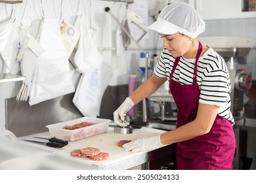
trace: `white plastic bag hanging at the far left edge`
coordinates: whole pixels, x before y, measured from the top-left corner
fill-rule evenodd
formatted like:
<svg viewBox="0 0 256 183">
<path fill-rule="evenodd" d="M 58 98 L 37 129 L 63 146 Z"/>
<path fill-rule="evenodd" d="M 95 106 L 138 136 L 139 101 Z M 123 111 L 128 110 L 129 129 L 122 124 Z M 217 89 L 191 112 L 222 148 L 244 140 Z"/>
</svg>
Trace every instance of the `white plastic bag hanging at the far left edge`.
<svg viewBox="0 0 256 183">
<path fill-rule="evenodd" d="M 15 40 L 14 20 L 12 18 L 5 18 L 0 21 L 0 72 L 10 73 L 11 60 L 13 54 L 13 46 Z"/>
</svg>

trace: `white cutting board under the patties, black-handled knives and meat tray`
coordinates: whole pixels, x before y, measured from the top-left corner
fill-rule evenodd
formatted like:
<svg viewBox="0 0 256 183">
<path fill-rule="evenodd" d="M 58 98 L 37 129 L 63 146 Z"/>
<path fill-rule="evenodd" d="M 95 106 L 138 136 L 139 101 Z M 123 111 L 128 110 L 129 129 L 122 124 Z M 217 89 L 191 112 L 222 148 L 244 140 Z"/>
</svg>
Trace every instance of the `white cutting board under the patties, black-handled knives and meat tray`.
<svg viewBox="0 0 256 183">
<path fill-rule="evenodd" d="M 64 146 L 64 148 L 51 148 L 48 146 L 42 146 L 40 144 L 34 144 L 31 142 L 27 144 L 30 144 L 30 146 L 36 146 L 38 148 L 51 150 L 52 152 L 56 153 L 55 156 L 60 155 L 62 156 L 62 158 L 72 160 L 74 161 L 74 163 L 82 163 L 85 166 L 92 167 L 92 169 L 104 169 L 104 167 L 108 167 L 115 163 L 125 161 L 125 159 L 134 158 L 142 154 L 146 155 L 146 152 L 125 151 L 123 150 L 123 148 L 120 148 L 117 146 L 118 141 L 121 141 L 121 140 L 133 141 L 142 137 L 152 137 L 152 136 L 160 135 L 161 133 L 165 133 L 165 132 L 166 131 L 163 131 L 160 129 L 142 127 L 142 129 L 133 129 L 133 133 L 131 134 L 118 134 L 118 133 L 114 133 L 113 127 L 109 127 L 108 132 L 106 133 L 101 133 L 92 137 L 87 137 L 79 141 L 69 142 L 67 146 Z M 49 131 L 47 131 L 43 133 L 37 133 L 33 135 L 28 135 L 25 137 L 20 137 L 19 139 L 35 140 L 33 137 L 50 138 L 50 133 Z M 70 152 L 72 152 L 72 150 L 85 148 L 89 146 L 99 148 L 101 152 L 108 152 L 108 154 L 110 154 L 110 157 L 104 161 L 93 161 L 89 158 L 74 158 L 70 156 Z"/>
</svg>

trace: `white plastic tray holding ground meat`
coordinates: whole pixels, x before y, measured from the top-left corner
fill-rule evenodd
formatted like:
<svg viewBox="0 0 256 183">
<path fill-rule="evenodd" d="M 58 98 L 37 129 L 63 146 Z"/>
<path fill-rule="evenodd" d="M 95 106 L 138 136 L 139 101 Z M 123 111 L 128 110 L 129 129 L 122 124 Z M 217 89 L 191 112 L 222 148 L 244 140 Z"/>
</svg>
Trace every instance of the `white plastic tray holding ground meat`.
<svg viewBox="0 0 256 183">
<path fill-rule="evenodd" d="M 74 125 L 81 122 L 91 122 L 95 125 L 73 130 L 63 129 L 63 127 L 66 125 Z M 110 122 L 111 120 L 108 119 L 83 117 L 66 122 L 60 122 L 58 124 L 47 125 L 46 127 L 49 129 L 51 137 L 56 137 L 64 141 L 77 141 L 80 139 L 85 139 L 86 137 L 105 133 L 108 131 L 108 125 Z"/>
</svg>

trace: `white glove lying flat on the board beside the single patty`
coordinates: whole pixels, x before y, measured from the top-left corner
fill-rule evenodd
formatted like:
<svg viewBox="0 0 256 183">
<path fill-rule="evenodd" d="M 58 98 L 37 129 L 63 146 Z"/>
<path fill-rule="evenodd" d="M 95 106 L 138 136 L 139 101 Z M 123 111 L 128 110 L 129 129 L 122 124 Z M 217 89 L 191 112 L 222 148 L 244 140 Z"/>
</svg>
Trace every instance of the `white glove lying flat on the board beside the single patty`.
<svg viewBox="0 0 256 183">
<path fill-rule="evenodd" d="M 137 139 L 136 141 L 123 144 L 125 150 L 131 150 L 132 152 L 140 152 L 147 150 L 154 150 L 161 148 L 165 145 L 161 144 L 160 135 L 148 138 Z"/>
</svg>

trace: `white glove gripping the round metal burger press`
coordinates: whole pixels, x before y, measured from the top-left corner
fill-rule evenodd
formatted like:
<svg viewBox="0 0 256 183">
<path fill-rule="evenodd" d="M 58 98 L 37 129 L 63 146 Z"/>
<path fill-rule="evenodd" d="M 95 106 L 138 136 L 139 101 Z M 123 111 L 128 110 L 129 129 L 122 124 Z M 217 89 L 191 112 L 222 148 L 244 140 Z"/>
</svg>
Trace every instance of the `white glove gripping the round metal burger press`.
<svg viewBox="0 0 256 183">
<path fill-rule="evenodd" d="M 133 101 L 126 97 L 125 101 L 117 108 L 114 114 L 114 121 L 119 126 L 127 126 L 128 122 L 125 122 L 125 115 L 134 106 Z"/>
</svg>

